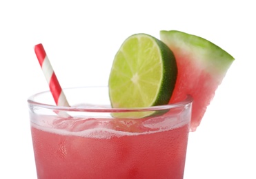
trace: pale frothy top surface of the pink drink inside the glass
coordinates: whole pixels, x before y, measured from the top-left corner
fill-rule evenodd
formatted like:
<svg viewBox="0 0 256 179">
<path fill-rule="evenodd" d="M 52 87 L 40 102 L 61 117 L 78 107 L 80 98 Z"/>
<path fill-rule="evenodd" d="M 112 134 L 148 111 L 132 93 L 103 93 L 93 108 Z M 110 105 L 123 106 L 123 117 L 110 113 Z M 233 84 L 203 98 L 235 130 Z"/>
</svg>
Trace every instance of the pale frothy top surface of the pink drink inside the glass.
<svg viewBox="0 0 256 179">
<path fill-rule="evenodd" d="M 37 118 L 37 124 L 32 126 L 55 134 L 64 136 L 81 136 L 86 138 L 112 138 L 121 136 L 137 136 L 152 134 L 162 131 L 168 131 L 188 124 L 186 118 L 177 118 L 177 116 L 158 116 L 139 119 L 107 119 L 107 118 L 61 118 L 58 116 L 33 116 Z M 113 122 L 115 120 L 115 123 Z M 119 125 L 117 130 L 116 126 Z M 130 125 L 130 126 L 129 126 Z M 128 127 L 139 128 L 132 132 Z"/>
</svg>

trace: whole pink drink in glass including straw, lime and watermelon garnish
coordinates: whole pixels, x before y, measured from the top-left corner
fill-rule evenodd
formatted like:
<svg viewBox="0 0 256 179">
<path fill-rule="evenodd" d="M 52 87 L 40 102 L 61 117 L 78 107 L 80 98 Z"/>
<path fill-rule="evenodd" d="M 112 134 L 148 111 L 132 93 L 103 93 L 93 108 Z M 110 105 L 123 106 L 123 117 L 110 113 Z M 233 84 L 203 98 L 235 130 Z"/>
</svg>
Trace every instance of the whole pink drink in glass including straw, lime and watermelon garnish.
<svg viewBox="0 0 256 179">
<path fill-rule="evenodd" d="M 28 99 L 38 178 L 183 178 L 188 132 L 234 59 L 199 36 L 160 35 L 129 36 L 108 87 L 64 91 L 36 45 L 50 86 Z"/>
</svg>

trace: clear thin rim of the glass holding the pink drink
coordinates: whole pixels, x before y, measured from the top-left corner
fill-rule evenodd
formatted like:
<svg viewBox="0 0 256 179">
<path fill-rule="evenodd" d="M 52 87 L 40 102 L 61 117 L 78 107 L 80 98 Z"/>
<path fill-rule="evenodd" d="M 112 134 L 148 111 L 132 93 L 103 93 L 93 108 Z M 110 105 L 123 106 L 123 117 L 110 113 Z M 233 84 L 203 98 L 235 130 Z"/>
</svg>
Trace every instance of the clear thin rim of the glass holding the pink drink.
<svg viewBox="0 0 256 179">
<path fill-rule="evenodd" d="M 83 87 L 66 87 L 63 88 L 63 91 L 72 90 L 72 89 L 82 89 L 82 88 L 106 88 L 108 86 L 83 86 Z M 186 95 L 186 98 L 177 103 L 170 103 L 166 105 L 155 105 L 150 107 L 66 107 L 66 106 L 57 106 L 50 105 L 46 103 L 39 103 L 35 100 L 35 98 L 41 94 L 50 93 L 50 90 L 46 90 L 43 92 L 38 92 L 28 97 L 29 105 L 36 105 L 37 107 L 42 107 L 45 109 L 59 110 L 59 111 L 67 111 L 67 112 L 148 112 L 148 111 L 157 111 L 164 109 L 175 109 L 177 107 L 182 107 L 193 103 L 193 97 L 189 94 Z"/>
</svg>

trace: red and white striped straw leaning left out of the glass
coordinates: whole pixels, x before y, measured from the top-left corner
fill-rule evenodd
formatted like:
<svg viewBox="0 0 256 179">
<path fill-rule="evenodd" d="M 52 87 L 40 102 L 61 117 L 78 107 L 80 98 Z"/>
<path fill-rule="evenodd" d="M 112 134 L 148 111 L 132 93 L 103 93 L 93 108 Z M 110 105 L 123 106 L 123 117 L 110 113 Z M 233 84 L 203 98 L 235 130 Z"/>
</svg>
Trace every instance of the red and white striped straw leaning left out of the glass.
<svg viewBox="0 0 256 179">
<path fill-rule="evenodd" d="M 50 64 L 46 51 L 41 43 L 35 45 L 35 53 L 37 55 L 39 64 L 41 65 L 41 69 L 43 70 L 43 74 L 46 77 L 46 81 L 50 87 L 50 92 L 55 99 L 56 105 L 69 106 L 66 96 L 61 89 L 61 85 L 59 85 L 57 76 L 52 69 L 52 65 Z"/>
</svg>

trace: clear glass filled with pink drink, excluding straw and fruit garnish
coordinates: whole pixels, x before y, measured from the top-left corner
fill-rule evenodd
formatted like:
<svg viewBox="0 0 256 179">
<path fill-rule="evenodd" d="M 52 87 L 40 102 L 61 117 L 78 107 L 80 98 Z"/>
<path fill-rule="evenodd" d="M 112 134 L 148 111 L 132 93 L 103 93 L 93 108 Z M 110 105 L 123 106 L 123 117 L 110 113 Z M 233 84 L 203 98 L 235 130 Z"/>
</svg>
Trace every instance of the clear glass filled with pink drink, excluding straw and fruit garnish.
<svg viewBox="0 0 256 179">
<path fill-rule="evenodd" d="M 64 92 L 70 104 L 90 105 L 45 105 L 50 92 L 28 99 L 38 178 L 183 178 L 189 96 L 174 105 L 139 109 L 157 115 L 112 118 L 113 112 L 138 109 L 111 109 L 104 87 Z"/>
</svg>

